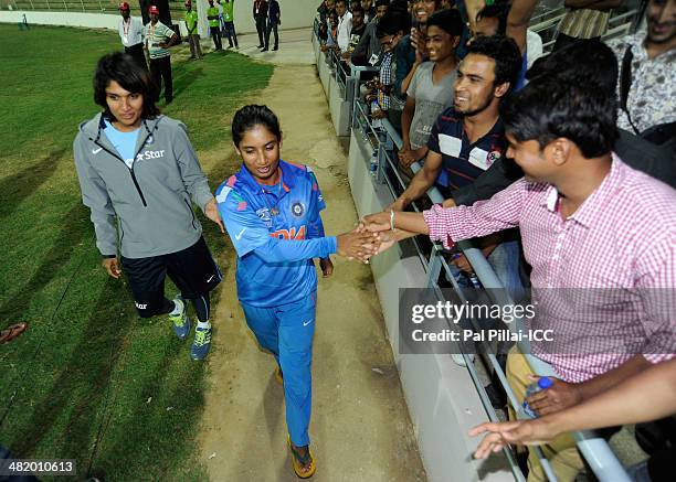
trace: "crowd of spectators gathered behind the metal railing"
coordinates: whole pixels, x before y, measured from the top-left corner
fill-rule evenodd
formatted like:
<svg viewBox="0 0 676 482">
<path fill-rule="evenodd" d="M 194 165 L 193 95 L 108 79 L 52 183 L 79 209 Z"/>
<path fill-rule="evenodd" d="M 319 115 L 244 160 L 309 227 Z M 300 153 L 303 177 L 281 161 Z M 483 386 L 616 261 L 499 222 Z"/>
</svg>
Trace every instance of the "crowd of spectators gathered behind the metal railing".
<svg viewBox="0 0 676 482">
<path fill-rule="evenodd" d="M 473 238 L 513 299 L 540 288 L 625 290 L 578 307 L 589 311 L 585 320 L 572 317 L 577 342 L 536 353 L 557 378 L 528 399 L 540 415 L 588 400 L 595 413 L 617 410 L 622 395 L 595 397 L 676 352 L 676 218 L 669 214 L 676 202 L 676 1 L 640 2 L 637 30 L 606 40 L 612 9 L 623 0 L 567 0 L 548 55 L 529 29 L 537 3 L 325 0 L 318 38 L 321 50 L 346 65 L 376 67 L 358 101 L 372 121 L 388 119 L 403 141 L 394 153 L 408 185 L 368 228 L 397 227 L 397 240 L 425 233 L 448 248 Z M 416 161 L 422 169 L 413 175 Z M 443 207 L 424 218 L 405 213 L 432 186 L 445 197 Z M 456 253 L 450 261 L 461 286 L 472 287 L 467 259 Z M 655 302 L 654 291 L 664 289 L 667 299 Z M 550 317 L 559 309 L 547 308 Z M 508 381 L 521 399 L 531 373 L 520 354 L 509 353 Z M 673 383 L 667 371 L 656 373 Z M 495 398 L 504 405 L 499 394 Z M 673 406 L 659 415 L 674 413 Z M 632 414 L 624 422 L 645 417 Z M 519 437 L 528 441 L 526 427 L 545 425 L 507 427 L 476 431 L 494 432 L 480 454 Z M 658 431 L 662 443 L 631 468 L 633 478 L 669 480 L 673 427 L 667 417 L 637 428 L 637 438 L 643 429 Z M 547 433 L 545 453 L 558 480 L 575 480 L 583 461 L 572 438 Z M 529 481 L 546 480 L 537 457 L 528 470 Z"/>
</svg>

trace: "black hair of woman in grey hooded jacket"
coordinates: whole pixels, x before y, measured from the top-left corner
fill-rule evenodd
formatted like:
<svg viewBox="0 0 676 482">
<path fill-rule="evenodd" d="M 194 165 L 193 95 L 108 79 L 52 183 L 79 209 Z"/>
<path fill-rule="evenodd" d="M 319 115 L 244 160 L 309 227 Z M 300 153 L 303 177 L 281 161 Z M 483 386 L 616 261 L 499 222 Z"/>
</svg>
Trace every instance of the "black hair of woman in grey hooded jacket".
<svg viewBox="0 0 676 482">
<path fill-rule="evenodd" d="M 94 101 L 104 108 L 106 119 L 117 120 L 106 101 L 106 88 L 113 81 L 125 90 L 144 97 L 144 119 L 159 116 L 160 110 L 155 105 L 157 87 L 148 71 L 138 65 L 131 55 L 115 52 L 101 57 L 94 72 Z"/>
</svg>

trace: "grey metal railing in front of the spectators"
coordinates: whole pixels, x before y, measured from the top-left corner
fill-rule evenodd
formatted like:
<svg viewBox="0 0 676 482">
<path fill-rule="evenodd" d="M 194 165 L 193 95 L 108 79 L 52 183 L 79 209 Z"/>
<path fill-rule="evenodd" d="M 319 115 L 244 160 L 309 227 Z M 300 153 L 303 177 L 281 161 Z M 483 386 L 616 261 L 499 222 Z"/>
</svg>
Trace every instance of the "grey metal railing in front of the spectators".
<svg viewBox="0 0 676 482">
<path fill-rule="evenodd" d="M 626 17 L 630 17 L 629 12 Z M 334 62 L 335 61 L 336 58 L 334 58 Z M 340 82 L 338 79 L 337 82 L 345 87 L 345 100 L 350 100 L 352 105 L 352 130 L 357 131 L 357 133 L 360 135 L 362 139 L 369 143 L 372 151 L 377 156 L 378 163 L 373 173 L 374 182 L 379 184 L 387 184 L 392 195 L 397 197 L 397 193 L 405 189 L 405 183 L 401 179 L 397 169 L 397 150 L 401 149 L 403 142 L 400 135 L 388 120 L 381 120 L 380 127 L 374 127 L 370 120 L 368 107 L 360 100 L 360 76 L 362 72 L 369 69 L 372 71 L 373 67 L 352 67 L 350 69 L 349 75 L 347 74 L 347 72 L 345 72 L 346 79 L 344 82 Z M 337 68 L 336 72 L 340 72 L 340 69 Z M 411 169 L 413 170 L 413 172 L 418 172 L 422 168 L 420 163 L 414 162 L 411 165 Z M 436 188 L 432 188 L 431 190 L 429 190 L 427 196 L 435 204 L 444 201 L 443 196 Z M 415 204 L 413 204 L 413 208 L 415 211 L 419 211 Z M 448 279 L 453 285 L 454 292 L 456 293 L 456 296 L 458 296 L 461 301 L 466 301 L 462 290 L 460 289 L 457 282 L 454 279 L 453 272 L 446 259 L 441 256 L 443 248 L 439 244 L 434 244 L 432 250 L 427 255 L 425 248 L 420 244 L 418 239 L 413 238 L 412 243 L 415 246 L 416 254 L 421 259 L 425 272 L 427 274 L 427 287 L 434 290 L 439 300 L 445 301 L 445 297 L 442 293 L 437 282 L 440 276 L 445 275 L 446 279 Z M 514 301 L 511 300 L 507 291 L 504 289 L 503 283 L 496 276 L 487 259 L 484 257 L 483 253 L 478 248 L 474 247 L 469 242 L 461 242 L 457 244 L 457 247 L 466 256 L 480 285 L 486 289 L 488 296 L 492 297 L 492 302 L 500 306 L 514 304 Z M 472 323 L 472 326 L 475 330 L 480 330 L 477 320 L 472 319 L 467 321 Z M 448 323 L 451 325 L 450 321 Z M 516 319 L 514 322 L 509 323 L 508 326 L 510 326 L 511 330 L 519 331 L 524 326 L 524 322 L 522 320 Z M 521 405 L 519 404 L 519 400 L 514 394 L 514 390 L 509 386 L 507 376 L 505 375 L 505 372 L 498 363 L 496 354 L 493 352 L 490 346 L 488 346 L 487 342 L 483 342 L 482 344 L 484 353 L 480 356 L 483 356 L 487 365 L 495 371 L 497 379 L 499 379 L 507 394 L 509 405 L 514 408 L 518 418 L 528 418 L 528 415 L 525 414 Z M 526 343 L 519 342 L 517 343 L 517 346 L 521 351 L 521 353 L 525 354 L 535 374 L 539 376 L 556 376 L 553 368 L 549 364 L 528 354 L 529 346 Z M 456 364 L 466 367 L 488 418 L 492 421 L 497 421 L 497 414 L 493 408 L 486 389 L 478 376 L 477 369 L 474 365 L 473 355 L 460 351 L 460 353 L 452 355 L 452 357 Z M 631 482 L 631 479 L 626 474 L 624 468 L 617 461 L 617 458 L 603 438 L 594 435 L 593 431 L 574 432 L 573 437 L 580 452 L 587 460 L 595 476 L 601 482 Z M 536 454 L 547 478 L 551 482 L 556 482 L 557 476 L 553 473 L 549 461 L 545 457 L 545 453 L 542 452 L 541 448 L 535 447 L 532 448 L 532 450 L 536 451 Z M 509 465 L 516 480 L 524 481 L 524 474 L 521 473 L 518 463 L 514 459 L 511 450 L 506 448 L 504 450 L 504 454 L 509 462 Z"/>
</svg>

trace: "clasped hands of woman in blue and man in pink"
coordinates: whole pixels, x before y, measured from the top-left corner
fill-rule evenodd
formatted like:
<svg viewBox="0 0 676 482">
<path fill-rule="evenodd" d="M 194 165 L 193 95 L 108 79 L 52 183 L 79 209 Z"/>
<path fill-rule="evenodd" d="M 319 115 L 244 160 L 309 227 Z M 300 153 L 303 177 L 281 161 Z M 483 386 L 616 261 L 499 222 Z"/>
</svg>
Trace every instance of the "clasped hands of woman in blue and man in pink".
<svg viewBox="0 0 676 482">
<path fill-rule="evenodd" d="M 336 239 L 339 256 L 365 264 L 369 263 L 371 256 L 392 247 L 398 240 L 391 231 L 389 212 L 365 216 L 355 229 L 338 235 Z"/>
</svg>

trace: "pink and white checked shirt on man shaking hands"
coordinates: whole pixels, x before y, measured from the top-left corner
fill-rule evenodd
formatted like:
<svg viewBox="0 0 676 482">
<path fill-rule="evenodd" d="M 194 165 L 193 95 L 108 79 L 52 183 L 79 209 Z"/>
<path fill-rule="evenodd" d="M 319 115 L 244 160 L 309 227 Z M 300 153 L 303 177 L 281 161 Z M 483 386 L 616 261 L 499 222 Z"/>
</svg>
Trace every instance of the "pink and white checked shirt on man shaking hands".
<svg viewBox="0 0 676 482">
<path fill-rule="evenodd" d="M 521 179 L 473 206 L 424 212 L 430 237 L 453 240 L 518 226 L 532 267 L 536 318 L 558 342 L 532 353 L 562 379 L 583 382 L 637 353 L 676 353 L 676 191 L 613 154 L 601 185 L 570 217 L 553 185 Z M 556 349 L 552 349 L 556 347 Z"/>
</svg>

